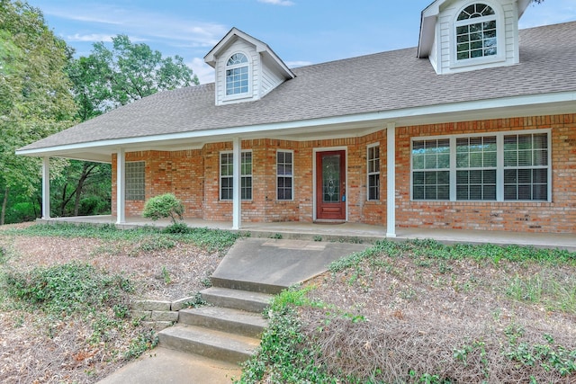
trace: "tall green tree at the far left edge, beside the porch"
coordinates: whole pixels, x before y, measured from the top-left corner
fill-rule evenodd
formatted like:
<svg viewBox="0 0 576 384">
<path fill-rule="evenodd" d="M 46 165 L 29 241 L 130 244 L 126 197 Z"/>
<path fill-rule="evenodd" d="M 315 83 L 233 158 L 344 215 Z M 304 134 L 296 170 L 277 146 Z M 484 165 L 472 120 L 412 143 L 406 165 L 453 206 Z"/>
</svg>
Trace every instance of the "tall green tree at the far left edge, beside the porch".
<svg viewBox="0 0 576 384">
<path fill-rule="evenodd" d="M 76 108 L 64 71 L 67 45 L 40 10 L 0 0 L 0 24 L 1 225 L 11 189 L 31 196 L 40 183 L 39 159 L 14 151 L 71 126 Z"/>
</svg>

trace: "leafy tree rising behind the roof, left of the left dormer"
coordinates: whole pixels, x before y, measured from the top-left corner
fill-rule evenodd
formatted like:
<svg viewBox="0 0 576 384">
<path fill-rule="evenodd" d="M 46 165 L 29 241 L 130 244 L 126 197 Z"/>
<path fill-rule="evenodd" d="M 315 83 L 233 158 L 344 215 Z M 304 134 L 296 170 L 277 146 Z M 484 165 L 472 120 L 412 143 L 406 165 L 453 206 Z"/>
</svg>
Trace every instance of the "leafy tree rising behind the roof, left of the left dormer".
<svg viewBox="0 0 576 384">
<path fill-rule="evenodd" d="M 70 64 L 68 75 L 81 121 L 158 91 L 199 84 L 184 58 L 162 58 L 159 51 L 132 43 L 126 35 L 112 38 L 112 49 L 94 43 L 90 56 Z"/>
</svg>

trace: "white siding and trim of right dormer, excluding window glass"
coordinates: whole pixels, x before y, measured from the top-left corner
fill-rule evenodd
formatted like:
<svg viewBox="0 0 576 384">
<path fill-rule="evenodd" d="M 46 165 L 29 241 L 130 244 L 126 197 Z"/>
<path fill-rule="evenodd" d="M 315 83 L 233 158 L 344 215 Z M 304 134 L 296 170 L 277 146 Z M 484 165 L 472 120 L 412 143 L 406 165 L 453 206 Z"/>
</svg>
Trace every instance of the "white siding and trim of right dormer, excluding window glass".
<svg viewBox="0 0 576 384">
<path fill-rule="evenodd" d="M 518 0 L 437 0 L 422 12 L 419 57 L 428 58 L 437 74 L 518 64 L 518 18 L 525 3 L 518 10 Z M 458 16 L 473 4 L 485 4 L 493 13 L 458 21 Z M 458 27 L 486 21 L 496 24 L 496 53 L 459 59 Z M 431 25 L 432 22 L 435 25 Z"/>
</svg>

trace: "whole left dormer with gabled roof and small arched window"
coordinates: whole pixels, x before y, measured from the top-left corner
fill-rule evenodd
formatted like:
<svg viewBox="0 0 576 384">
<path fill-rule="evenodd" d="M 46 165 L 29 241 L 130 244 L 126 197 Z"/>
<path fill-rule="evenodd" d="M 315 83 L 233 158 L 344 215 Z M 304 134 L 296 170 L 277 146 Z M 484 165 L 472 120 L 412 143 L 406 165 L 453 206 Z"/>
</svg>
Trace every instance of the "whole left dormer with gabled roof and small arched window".
<svg viewBox="0 0 576 384">
<path fill-rule="evenodd" d="M 215 70 L 216 105 L 253 102 L 294 76 L 264 42 L 232 28 L 204 57 Z"/>
</svg>

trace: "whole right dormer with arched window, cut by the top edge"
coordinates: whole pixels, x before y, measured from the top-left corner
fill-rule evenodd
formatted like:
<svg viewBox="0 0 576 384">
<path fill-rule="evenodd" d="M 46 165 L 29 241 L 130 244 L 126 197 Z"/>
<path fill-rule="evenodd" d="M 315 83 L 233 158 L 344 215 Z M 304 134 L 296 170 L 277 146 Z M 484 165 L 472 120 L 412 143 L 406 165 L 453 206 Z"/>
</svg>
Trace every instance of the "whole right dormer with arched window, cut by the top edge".
<svg viewBox="0 0 576 384">
<path fill-rule="evenodd" d="M 518 64 L 518 20 L 532 0 L 437 0 L 422 11 L 418 57 L 437 74 Z"/>
</svg>

